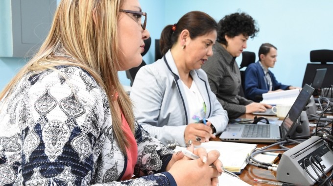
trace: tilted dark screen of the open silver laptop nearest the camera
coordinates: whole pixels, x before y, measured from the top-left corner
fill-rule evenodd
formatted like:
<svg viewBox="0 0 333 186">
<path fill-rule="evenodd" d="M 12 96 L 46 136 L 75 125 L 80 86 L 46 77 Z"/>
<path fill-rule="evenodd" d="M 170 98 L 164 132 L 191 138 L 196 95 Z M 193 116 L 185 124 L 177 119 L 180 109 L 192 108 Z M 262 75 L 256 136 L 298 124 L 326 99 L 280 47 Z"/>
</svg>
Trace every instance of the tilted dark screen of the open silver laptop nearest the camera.
<svg viewBox="0 0 333 186">
<path fill-rule="evenodd" d="M 301 116 L 301 113 L 304 107 L 307 105 L 314 89 L 308 84 L 305 84 L 302 91 L 297 96 L 294 104 L 291 106 L 287 116 L 285 116 L 284 121 L 281 124 L 282 138 L 285 140 L 287 137 L 290 138 L 297 127 L 295 122 L 298 117 Z"/>
</svg>

